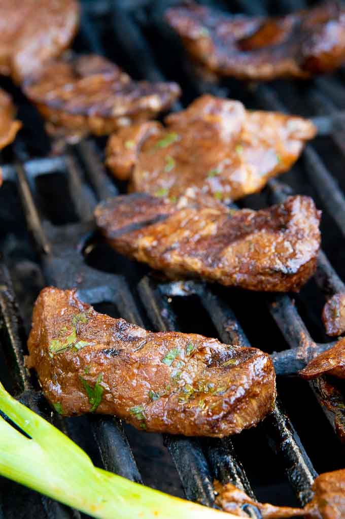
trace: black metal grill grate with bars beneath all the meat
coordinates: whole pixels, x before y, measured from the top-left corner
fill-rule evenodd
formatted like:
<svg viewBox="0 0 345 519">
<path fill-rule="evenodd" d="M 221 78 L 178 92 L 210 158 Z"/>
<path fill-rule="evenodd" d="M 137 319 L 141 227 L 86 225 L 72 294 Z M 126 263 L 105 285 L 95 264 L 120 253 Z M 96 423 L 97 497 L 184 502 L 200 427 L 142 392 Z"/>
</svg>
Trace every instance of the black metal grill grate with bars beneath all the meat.
<svg viewBox="0 0 345 519">
<path fill-rule="evenodd" d="M 318 271 L 293 299 L 196 281 L 162 282 L 145 266 L 120 257 L 100 240 L 92 223 L 95 204 L 126 189 L 104 170 L 105 141 L 87 139 L 59 153 L 59 143 L 50 147 L 34 108 L 2 79 L 2 86 L 19 106 L 24 129 L 2 155 L 1 379 L 21 402 L 86 449 L 96 465 L 133 481 L 211 507 L 215 478 L 232 482 L 260 500 L 303 505 L 311 498 L 318 472 L 343 466 L 345 404 L 339 381 L 322 377 L 306 383 L 279 377 L 280 398 L 257 428 L 231 439 L 198 440 L 137 432 L 117 418 L 62 419 L 50 411 L 37 379 L 24 368 L 32 305 L 46 284 L 62 289 L 75 286 L 81 299 L 97 310 L 148 329 L 196 332 L 217 336 L 224 343 L 257 346 L 272 354 L 278 375 L 296 373 L 315 351 L 332 345 L 320 316 L 325 298 L 345 292 L 340 279 L 345 276 L 345 69 L 302 83 L 243 86 L 223 80 L 205 84 L 192 73 L 180 43 L 163 21 L 163 11 L 172 4 L 148 0 L 84 3 L 74 49 L 104 54 L 134 78 L 176 80 L 184 93 L 175 110 L 209 91 L 240 99 L 249 108 L 311 117 L 318 136 L 284 175 L 284 183 L 271 180 L 262 193 L 240 203 L 258 209 L 290 193 L 312 196 L 324 210 Z M 232 12 L 277 13 L 277 6 L 268 0 L 215 5 Z M 303 0 L 284 0 L 280 12 L 305 6 Z M 246 512 L 260 516 L 255 507 L 247 507 Z M 2 480 L 0 517 L 81 515 Z"/>
</svg>

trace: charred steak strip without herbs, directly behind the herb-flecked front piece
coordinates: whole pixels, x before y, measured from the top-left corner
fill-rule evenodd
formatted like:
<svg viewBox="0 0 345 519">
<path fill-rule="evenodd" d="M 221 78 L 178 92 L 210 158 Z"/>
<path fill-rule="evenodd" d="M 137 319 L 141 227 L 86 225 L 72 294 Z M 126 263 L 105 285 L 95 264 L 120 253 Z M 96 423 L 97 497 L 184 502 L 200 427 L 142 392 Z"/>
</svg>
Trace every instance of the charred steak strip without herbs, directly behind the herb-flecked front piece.
<svg viewBox="0 0 345 519">
<path fill-rule="evenodd" d="M 202 277 L 250 290 L 298 291 L 313 274 L 320 211 L 309 197 L 269 209 L 187 207 L 144 194 L 99 204 L 96 224 L 118 252 L 172 278 Z"/>
</svg>

